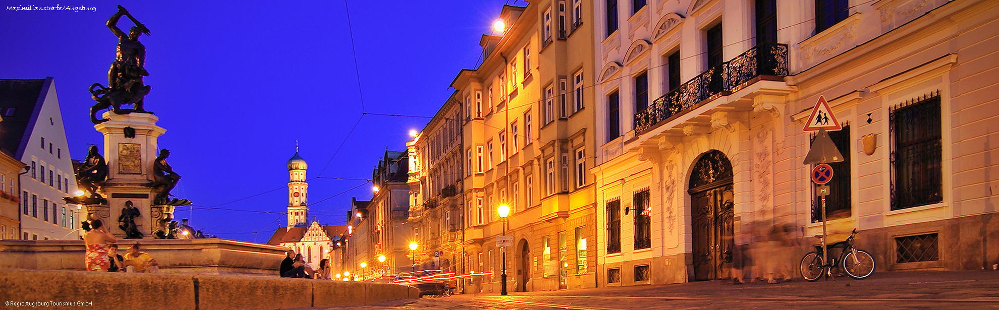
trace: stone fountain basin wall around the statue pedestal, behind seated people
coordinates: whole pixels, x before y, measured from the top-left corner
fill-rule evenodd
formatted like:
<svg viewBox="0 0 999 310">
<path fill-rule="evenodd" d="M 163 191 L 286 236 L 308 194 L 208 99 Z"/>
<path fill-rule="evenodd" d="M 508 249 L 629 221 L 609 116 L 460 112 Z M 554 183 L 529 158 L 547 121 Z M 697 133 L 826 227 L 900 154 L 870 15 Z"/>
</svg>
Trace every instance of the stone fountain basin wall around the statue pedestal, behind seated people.
<svg viewBox="0 0 999 310">
<path fill-rule="evenodd" d="M 219 238 L 139 239 L 162 273 L 278 276 L 287 248 Z M 124 255 L 136 239 L 120 239 Z M 84 270 L 83 240 L 0 240 L 0 268 Z"/>
</svg>

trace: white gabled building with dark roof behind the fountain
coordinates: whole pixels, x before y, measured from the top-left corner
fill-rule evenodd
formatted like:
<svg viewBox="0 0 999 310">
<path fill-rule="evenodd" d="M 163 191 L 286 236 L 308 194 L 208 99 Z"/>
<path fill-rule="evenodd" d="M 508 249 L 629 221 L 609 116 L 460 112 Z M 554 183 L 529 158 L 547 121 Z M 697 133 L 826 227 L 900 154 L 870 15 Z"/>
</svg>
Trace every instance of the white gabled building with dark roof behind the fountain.
<svg viewBox="0 0 999 310">
<path fill-rule="evenodd" d="M 0 149 L 30 168 L 17 179 L 19 238 L 79 238 L 86 214 L 62 199 L 76 177 L 53 79 L 0 80 L 0 117 Z"/>
</svg>

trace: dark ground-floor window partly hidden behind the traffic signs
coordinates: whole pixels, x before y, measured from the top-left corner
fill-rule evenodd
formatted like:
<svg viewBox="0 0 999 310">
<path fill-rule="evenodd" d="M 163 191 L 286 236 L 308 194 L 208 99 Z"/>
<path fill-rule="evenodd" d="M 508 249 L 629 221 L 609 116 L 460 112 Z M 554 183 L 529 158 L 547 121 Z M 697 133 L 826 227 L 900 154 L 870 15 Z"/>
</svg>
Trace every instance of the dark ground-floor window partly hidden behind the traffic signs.
<svg viewBox="0 0 999 310">
<path fill-rule="evenodd" d="M 829 139 L 833 145 L 844 155 L 843 161 L 829 162 L 832 170 L 836 171 L 836 177 L 829 181 L 829 195 L 825 197 L 825 218 L 837 219 L 850 217 L 850 128 L 844 126 L 843 130 L 829 132 Z M 812 222 L 822 221 L 822 199 L 812 195 Z"/>
</svg>

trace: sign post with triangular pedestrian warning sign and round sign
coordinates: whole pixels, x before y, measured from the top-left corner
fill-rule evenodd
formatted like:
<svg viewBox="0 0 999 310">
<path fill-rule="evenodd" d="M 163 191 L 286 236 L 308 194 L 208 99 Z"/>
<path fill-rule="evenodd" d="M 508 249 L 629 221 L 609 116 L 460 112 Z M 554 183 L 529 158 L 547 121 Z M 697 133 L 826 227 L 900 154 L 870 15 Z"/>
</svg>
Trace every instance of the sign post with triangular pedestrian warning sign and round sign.
<svg viewBox="0 0 999 310">
<path fill-rule="evenodd" d="M 812 108 L 811 115 L 808 117 L 805 127 L 802 129 L 805 132 L 818 132 L 815 136 L 815 140 L 812 141 L 811 149 L 808 150 L 808 154 L 805 155 L 804 164 L 816 164 L 811 171 L 811 180 L 815 182 L 815 195 L 821 197 L 820 212 L 822 212 L 822 255 L 825 255 L 825 265 L 830 265 L 829 248 L 826 247 L 825 238 L 828 236 L 828 231 L 826 228 L 826 218 L 825 218 L 825 196 L 829 195 L 829 185 L 826 185 L 830 180 L 832 180 L 832 166 L 828 162 L 840 162 L 843 161 L 843 155 L 839 153 L 836 149 L 836 144 L 832 143 L 832 139 L 829 139 L 829 134 L 826 131 L 839 131 L 843 127 L 839 124 L 839 120 L 836 120 L 836 115 L 832 114 L 832 109 L 829 109 L 829 104 L 826 103 L 825 97 L 819 96 L 818 102 L 815 103 L 815 108 Z M 832 270 L 832 268 L 826 269 Z M 829 274 L 825 274 L 826 280 L 829 279 Z"/>
</svg>

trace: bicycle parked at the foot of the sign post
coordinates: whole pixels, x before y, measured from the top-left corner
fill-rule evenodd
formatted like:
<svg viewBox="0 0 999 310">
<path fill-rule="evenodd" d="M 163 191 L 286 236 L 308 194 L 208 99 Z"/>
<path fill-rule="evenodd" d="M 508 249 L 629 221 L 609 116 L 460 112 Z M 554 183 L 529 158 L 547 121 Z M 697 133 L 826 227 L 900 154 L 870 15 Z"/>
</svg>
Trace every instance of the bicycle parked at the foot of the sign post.
<svg viewBox="0 0 999 310">
<path fill-rule="evenodd" d="M 867 253 L 867 251 L 857 249 L 853 246 L 853 236 L 856 234 L 857 229 L 853 228 L 853 232 L 850 233 L 850 236 L 846 237 L 846 240 L 826 246 L 830 252 L 833 248 L 842 248 L 839 260 L 833 260 L 829 263 L 826 263 L 825 257 L 822 256 L 825 253 L 822 250 L 822 246 L 816 245 L 814 251 L 808 252 L 801 258 L 801 277 L 809 282 L 814 282 L 822 277 L 823 274 L 826 277 L 832 276 L 832 267 L 837 264 L 841 266 L 840 270 L 851 278 L 859 280 L 869 277 L 874 273 L 874 257 L 870 253 Z M 815 237 L 822 238 L 820 235 L 816 235 Z"/>
</svg>

